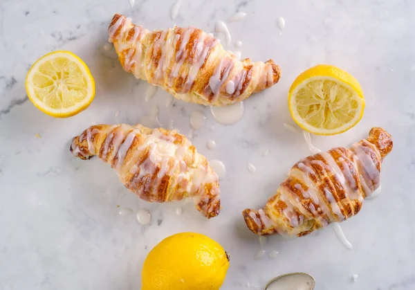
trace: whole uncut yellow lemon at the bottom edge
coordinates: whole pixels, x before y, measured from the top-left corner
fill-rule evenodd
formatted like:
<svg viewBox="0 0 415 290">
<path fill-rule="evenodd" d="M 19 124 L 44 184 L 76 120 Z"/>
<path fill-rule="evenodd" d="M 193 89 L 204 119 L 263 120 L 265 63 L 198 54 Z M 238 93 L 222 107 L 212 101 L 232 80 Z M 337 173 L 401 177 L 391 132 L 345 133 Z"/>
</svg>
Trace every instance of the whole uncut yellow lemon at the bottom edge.
<svg viewBox="0 0 415 290">
<path fill-rule="evenodd" d="M 229 267 L 228 253 L 210 237 L 178 233 L 147 255 L 142 290 L 217 290 Z"/>
</svg>

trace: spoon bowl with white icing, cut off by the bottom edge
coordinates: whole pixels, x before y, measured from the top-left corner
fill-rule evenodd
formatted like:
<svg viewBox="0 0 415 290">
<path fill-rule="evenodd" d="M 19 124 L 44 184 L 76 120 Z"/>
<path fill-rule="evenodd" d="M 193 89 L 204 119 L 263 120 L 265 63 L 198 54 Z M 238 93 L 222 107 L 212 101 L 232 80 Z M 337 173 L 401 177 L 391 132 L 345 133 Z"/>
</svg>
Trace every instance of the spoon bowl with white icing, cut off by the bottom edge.
<svg viewBox="0 0 415 290">
<path fill-rule="evenodd" d="M 266 284 L 265 290 L 313 290 L 315 280 L 307 273 L 280 275 Z"/>
</svg>

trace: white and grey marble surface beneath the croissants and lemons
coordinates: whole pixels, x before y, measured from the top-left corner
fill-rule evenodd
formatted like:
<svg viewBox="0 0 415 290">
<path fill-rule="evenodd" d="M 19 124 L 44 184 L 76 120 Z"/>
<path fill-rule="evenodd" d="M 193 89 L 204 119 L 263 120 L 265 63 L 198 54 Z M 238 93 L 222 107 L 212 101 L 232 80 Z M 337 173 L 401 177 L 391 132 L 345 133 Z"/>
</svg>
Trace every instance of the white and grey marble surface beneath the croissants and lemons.
<svg viewBox="0 0 415 290">
<path fill-rule="evenodd" d="M 136 0 L 131 8 L 128 0 L 0 1 L 0 289 L 140 289 L 149 250 L 182 231 L 210 235 L 230 252 L 222 289 L 263 289 L 270 278 L 291 271 L 311 273 L 317 290 L 415 289 L 415 2 L 183 0 L 172 20 L 173 3 Z M 113 48 L 105 46 L 115 12 L 151 29 L 178 24 L 212 32 L 216 21 L 237 11 L 246 19 L 228 24 L 232 44 L 226 48 L 253 60 L 272 58 L 282 79 L 247 100 L 243 120 L 232 126 L 216 123 L 207 107 L 181 101 L 166 107 L 170 97 L 160 89 L 145 102 L 147 83 L 122 71 Z M 282 30 L 279 17 L 286 21 Z M 235 48 L 237 40 L 241 48 Z M 80 55 L 96 82 L 91 107 L 73 118 L 42 114 L 24 89 L 30 65 L 58 49 Z M 301 239 L 270 237 L 265 257 L 255 260 L 258 237 L 246 228 L 241 210 L 264 204 L 291 165 L 309 154 L 302 133 L 283 123 L 292 123 L 286 105 L 291 82 L 319 63 L 355 75 L 367 108 L 349 132 L 313 136 L 313 142 L 321 149 L 349 145 L 371 126 L 385 127 L 394 150 L 382 167 L 382 193 L 342 224 L 353 250 L 330 226 Z M 219 217 L 208 221 L 191 203 L 140 201 L 109 165 L 70 154 L 69 141 L 89 125 L 137 123 L 154 105 L 164 127 L 173 120 L 193 135 L 199 152 L 225 163 Z M 207 120 L 192 132 L 195 110 Z M 214 150 L 206 147 L 211 139 Z M 119 215 L 118 205 L 134 214 L 149 210 L 151 224 Z M 178 207 L 183 215 L 176 215 Z M 279 255 L 270 259 L 271 251 Z"/>
</svg>

